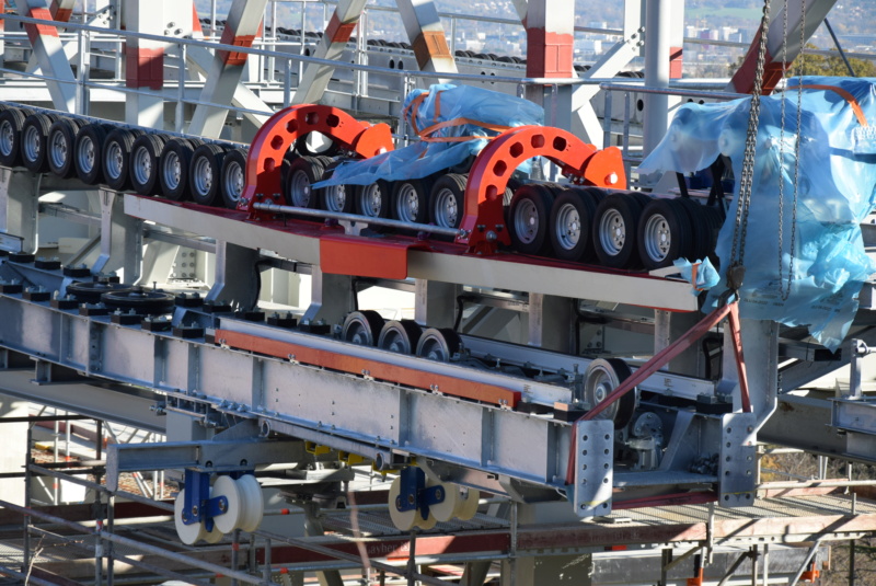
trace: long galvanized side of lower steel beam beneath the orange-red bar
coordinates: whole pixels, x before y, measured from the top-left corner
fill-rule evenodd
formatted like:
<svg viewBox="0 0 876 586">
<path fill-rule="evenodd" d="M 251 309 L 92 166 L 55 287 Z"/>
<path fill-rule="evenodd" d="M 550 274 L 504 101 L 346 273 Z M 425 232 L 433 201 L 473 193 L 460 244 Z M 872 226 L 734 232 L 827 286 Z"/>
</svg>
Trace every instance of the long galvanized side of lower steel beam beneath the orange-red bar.
<svg viewBox="0 0 876 586">
<path fill-rule="evenodd" d="M 557 462 L 565 462 L 561 456 L 568 449 L 568 424 L 546 417 L 119 326 L 106 318 L 82 318 L 9 296 L 0 296 L 0 346 L 90 377 L 164 391 L 174 400 L 209 403 L 241 417 L 297 424 L 376 450 L 430 457 L 540 485 L 561 487 L 563 482 L 555 479 L 563 478 Z M 32 387 L 28 399 L 41 402 L 54 388 Z"/>
</svg>

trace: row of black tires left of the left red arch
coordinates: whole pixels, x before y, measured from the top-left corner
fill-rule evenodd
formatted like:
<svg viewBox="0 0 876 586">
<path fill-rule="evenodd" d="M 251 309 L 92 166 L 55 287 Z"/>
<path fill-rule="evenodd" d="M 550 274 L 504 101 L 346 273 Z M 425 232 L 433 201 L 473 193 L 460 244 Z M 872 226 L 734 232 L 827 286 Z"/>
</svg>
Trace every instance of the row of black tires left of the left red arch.
<svg viewBox="0 0 876 586">
<path fill-rule="evenodd" d="M 246 149 L 83 118 L 4 107 L 0 164 L 89 185 L 234 208 Z"/>
</svg>

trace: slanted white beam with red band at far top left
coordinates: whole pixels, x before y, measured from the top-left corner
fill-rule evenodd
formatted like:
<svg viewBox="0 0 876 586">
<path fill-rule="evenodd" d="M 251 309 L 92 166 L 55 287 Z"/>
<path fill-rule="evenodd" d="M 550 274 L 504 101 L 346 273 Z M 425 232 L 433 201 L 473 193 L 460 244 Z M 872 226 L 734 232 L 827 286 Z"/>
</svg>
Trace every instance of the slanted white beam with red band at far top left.
<svg viewBox="0 0 876 586">
<path fill-rule="evenodd" d="M 19 0 L 15 3 L 15 11 L 21 16 L 53 20 L 45 0 Z M 27 23 L 24 25 L 24 30 L 27 38 L 31 39 L 39 69 L 49 78 L 46 79 L 46 85 L 55 110 L 73 112 L 76 108 L 76 76 L 73 76 L 73 70 L 64 53 L 58 28 L 49 24 Z"/>
</svg>

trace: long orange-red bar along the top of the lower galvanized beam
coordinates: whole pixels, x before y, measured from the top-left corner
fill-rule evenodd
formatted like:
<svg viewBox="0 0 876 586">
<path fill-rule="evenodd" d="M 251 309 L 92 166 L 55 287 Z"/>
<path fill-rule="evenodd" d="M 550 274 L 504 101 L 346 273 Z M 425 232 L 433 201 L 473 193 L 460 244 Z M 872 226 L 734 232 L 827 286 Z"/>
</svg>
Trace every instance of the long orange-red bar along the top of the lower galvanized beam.
<svg viewBox="0 0 876 586">
<path fill-rule="evenodd" d="M 267 337 L 231 332 L 216 331 L 216 342 L 231 348 L 254 352 L 283 359 L 295 359 L 297 363 L 320 366 L 339 372 L 361 375 L 364 371 L 377 380 L 385 380 L 413 387 L 415 389 L 438 390 L 441 394 L 471 399 L 499 406 L 515 409 L 520 402 L 520 391 L 504 387 L 474 382 L 448 375 L 426 372 L 416 368 L 397 366 L 389 363 L 359 358 L 336 352 L 330 352 L 291 342 L 280 342 Z"/>
</svg>

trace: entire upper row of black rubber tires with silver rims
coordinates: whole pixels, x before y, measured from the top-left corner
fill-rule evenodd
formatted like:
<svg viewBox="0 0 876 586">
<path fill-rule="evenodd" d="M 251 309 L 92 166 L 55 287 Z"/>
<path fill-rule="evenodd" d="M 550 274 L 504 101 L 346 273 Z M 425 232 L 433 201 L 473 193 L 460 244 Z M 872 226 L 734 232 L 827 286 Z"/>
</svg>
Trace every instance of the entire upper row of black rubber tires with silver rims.
<svg viewBox="0 0 876 586">
<path fill-rule="evenodd" d="M 307 138 L 307 137 L 306 137 Z M 458 228 L 466 173 L 369 185 L 313 184 L 339 159 L 299 140 L 283 164 L 283 195 L 292 207 Z M 0 165 L 79 177 L 90 185 L 171 200 L 235 208 L 245 184 L 247 150 L 195 138 L 147 133 L 82 118 L 4 107 Z M 506 189 L 506 225 L 517 252 L 610 268 L 655 269 L 676 258 L 713 254 L 723 210 L 690 198 L 531 183 Z"/>
</svg>

